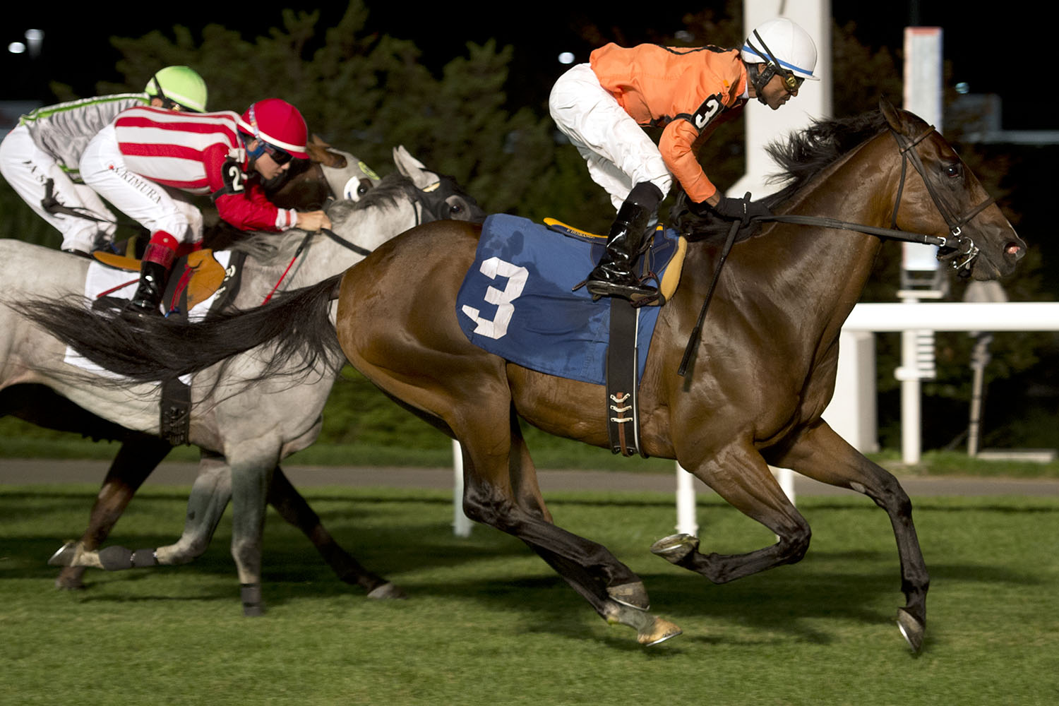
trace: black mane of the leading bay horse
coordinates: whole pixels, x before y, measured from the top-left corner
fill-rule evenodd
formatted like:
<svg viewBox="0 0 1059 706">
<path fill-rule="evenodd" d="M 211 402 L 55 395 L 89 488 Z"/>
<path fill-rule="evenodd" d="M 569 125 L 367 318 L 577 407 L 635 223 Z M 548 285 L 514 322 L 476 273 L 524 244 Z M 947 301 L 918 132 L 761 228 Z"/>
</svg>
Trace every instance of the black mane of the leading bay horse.
<svg viewBox="0 0 1059 706">
<path fill-rule="evenodd" d="M 808 128 L 792 132 L 787 140 L 770 143 L 766 151 L 780 170 L 770 175 L 769 181 L 782 183 L 784 187 L 761 201 L 775 211 L 836 160 L 879 134 L 885 127 L 885 116 L 882 111 L 876 110 L 855 117 L 816 120 Z M 669 213 L 671 222 L 681 233 L 689 234 L 688 237 L 694 240 L 722 237 L 728 233 L 731 221 L 698 218 L 687 210 L 686 199 L 681 192 Z M 753 224 L 743 229 L 739 239 L 754 235 L 759 228 Z"/>
</svg>

